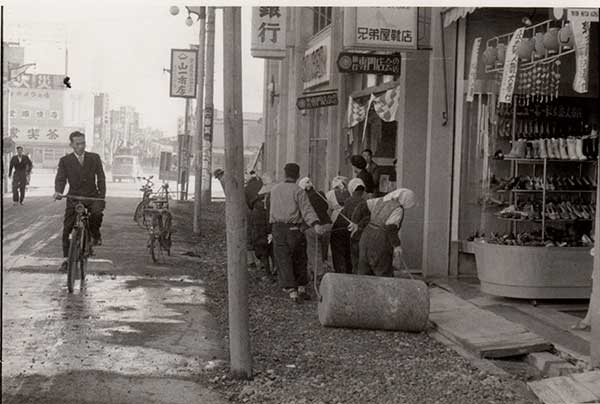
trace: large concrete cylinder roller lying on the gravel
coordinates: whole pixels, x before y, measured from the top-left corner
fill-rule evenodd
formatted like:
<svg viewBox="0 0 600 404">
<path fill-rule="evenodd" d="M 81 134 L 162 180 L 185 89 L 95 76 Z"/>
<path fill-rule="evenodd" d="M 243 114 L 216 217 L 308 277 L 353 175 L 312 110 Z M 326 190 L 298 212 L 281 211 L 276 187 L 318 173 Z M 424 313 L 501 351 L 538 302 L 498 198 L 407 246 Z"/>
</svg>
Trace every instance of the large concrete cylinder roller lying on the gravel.
<svg viewBox="0 0 600 404">
<path fill-rule="evenodd" d="M 423 281 L 327 273 L 319 287 L 319 322 L 326 327 L 420 332 L 429 319 Z"/>
</svg>

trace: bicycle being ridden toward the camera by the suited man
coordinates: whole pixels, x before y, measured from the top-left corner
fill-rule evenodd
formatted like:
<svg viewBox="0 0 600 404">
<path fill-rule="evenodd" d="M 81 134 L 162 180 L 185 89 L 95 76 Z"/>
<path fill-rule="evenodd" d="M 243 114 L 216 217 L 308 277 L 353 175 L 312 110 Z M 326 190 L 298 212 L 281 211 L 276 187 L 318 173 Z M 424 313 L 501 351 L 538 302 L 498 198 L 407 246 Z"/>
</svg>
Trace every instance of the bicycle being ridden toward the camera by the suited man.
<svg viewBox="0 0 600 404">
<path fill-rule="evenodd" d="M 91 198 L 85 196 L 60 195 L 60 198 L 78 201 L 75 205 L 75 225 L 71 230 L 69 256 L 67 261 L 67 289 L 73 293 L 75 277 L 79 267 L 80 285 L 83 286 L 87 272 L 88 258 L 94 255 L 92 236 L 90 233 L 90 212 L 81 201 L 104 201 L 104 198 Z"/>
</svg>

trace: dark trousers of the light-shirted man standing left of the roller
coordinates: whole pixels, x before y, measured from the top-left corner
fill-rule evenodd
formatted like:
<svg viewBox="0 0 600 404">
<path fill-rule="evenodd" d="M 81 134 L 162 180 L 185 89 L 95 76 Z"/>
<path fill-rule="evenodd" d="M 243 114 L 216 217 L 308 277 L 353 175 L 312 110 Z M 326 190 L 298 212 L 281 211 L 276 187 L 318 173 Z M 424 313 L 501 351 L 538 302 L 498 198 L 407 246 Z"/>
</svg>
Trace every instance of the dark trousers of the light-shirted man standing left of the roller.
<svg viewBox="0 0 600 404">
<path fill-rule="evenodd" d="M 281 287 L 306 286 L 308 274 L 304 233 L 296 226 L 274 223 L 272 234 L 273 253 Z"/>
</svg>

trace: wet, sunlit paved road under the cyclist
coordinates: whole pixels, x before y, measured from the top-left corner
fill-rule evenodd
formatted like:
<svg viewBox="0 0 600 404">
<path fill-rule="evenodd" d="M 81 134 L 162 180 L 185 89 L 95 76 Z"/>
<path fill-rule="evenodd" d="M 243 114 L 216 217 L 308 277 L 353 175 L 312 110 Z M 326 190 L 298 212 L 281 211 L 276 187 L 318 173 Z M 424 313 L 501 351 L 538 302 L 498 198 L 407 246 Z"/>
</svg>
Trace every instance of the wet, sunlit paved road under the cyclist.
<svg viewBox="0 0 600 404">
<path fill-rule="evenodd" d="M 152 263 L 131 219 L 137 198 L 111 196 L 136 188 L 109 186 L 104 245 L 71 295 L 57 272 L 64 202 L 4 198 L 3 403 L 220 402 L 194 383 L 225 357 L 198 263 L 177 238 L 173 256 Z"/>
</svg>

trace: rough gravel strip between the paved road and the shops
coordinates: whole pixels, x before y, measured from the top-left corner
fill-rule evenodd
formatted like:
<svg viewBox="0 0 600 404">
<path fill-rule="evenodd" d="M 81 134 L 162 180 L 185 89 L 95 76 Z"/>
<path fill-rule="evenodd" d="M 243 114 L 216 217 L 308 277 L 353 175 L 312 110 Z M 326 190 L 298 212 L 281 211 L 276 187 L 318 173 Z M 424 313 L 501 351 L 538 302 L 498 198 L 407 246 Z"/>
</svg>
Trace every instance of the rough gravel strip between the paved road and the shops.
<svg viewBox="0 0 600 404">
<path fill-rule="evenodd" d="M 204 237 L 191 234 L 192 205 L 174 207 L 181 238 L 202 265 L 210 310 L 225 348 L 227 278 L 224 203 L 205 208 Z M 480 371 L 426 333 L 321 327 L 316 301 L 292 303 L 259 271 L 250 270 L 254 379 L 232 380 L 227 367 L 203 370 L 199 381 L 244 403 L 537 403 L 517 377 Z"/>
</svg>

